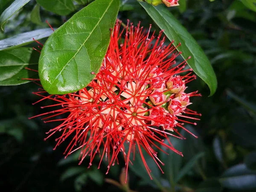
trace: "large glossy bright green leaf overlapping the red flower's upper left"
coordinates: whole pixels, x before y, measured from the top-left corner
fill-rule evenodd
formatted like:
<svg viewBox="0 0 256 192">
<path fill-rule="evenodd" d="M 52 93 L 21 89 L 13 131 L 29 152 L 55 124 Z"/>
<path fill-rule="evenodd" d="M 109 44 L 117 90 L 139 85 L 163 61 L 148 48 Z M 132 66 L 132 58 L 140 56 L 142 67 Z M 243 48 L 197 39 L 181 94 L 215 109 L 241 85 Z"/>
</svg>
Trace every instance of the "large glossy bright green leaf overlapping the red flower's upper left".
<svg viewBox="0 0 256 192">
<path fill-rule="evenodd" d="M 47 92 L 71 93 L 94 79 L 91 72 L 99 71 L 118 9 L 119 0 L 96 0 L 48 38 L 39 60 L 39 76 Z"/>
</svg>

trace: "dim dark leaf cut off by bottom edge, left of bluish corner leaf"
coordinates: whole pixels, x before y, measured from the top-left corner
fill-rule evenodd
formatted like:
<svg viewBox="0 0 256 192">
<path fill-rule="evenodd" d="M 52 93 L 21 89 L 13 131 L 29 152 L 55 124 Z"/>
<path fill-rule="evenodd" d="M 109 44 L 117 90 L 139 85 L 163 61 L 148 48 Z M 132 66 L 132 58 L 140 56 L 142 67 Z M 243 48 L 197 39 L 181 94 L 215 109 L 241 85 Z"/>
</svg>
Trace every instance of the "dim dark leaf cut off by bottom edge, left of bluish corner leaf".
<svg viewBox="0 0 256 192">
<path fill-rule="evenodd" d="M 218 179 L 207 179 L 199 184 L 195 192 L 221 192 L 222 187 Z"/>
</svg>

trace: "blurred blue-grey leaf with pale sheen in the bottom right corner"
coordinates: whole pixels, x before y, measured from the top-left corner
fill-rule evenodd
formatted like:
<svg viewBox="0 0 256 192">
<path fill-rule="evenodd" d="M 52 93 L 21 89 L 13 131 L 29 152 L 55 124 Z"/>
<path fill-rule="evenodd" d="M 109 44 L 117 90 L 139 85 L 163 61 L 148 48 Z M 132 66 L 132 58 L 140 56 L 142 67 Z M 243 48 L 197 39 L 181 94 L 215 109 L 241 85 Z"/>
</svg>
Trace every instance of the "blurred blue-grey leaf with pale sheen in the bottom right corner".
<svg viewBox="0 0 256 192">
<path fill-rule="evenodd" d="M 219 179 L 222 186 L 228 189 L 250 190 L 256 189 L 256 172 L 239 164 L 227 169 Z"/>
</svg>

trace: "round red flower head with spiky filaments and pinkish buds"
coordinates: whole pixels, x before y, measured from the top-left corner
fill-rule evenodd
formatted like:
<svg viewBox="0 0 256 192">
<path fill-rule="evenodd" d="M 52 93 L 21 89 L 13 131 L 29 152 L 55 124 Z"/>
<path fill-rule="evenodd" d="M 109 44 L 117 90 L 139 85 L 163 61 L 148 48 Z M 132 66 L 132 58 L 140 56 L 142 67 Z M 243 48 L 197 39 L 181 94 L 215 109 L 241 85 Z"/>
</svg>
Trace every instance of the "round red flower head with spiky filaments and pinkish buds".
<svg viewBox="0 0 256 192">
<path fill-rule="evenodd" d="M 182 155 L 173 148 L 169 136 L 183 139 L 179 131 L 186 130 L 184 123 L 196 125 L 186 118 L 199 120 L 195 116 L 201 114 L 187 106 L 191 104 L 190 97 L 200 94 L 184 92 L 186 83 L 195 79 L 195 75 L 186 67 L 186 61 L 176 64 L 180 52 L 172 44 L 164 45 L 163 31 L 157 37 L 154 32 L 150 36 L 150 30 L 143 30 L 140 23 L 133 26 L 129 21 L 127 27 L 120 28 L 121 22 L 117 21 L 111 29 L 111 42 L 102 67 L 87 87 L 65 95 L 45 96 L 44 90 L 34 93 L 43 97 L 40 101 L 57 102 L 42 108 L 60 107 L 38 116 L 47 115 L 45 122 L 61 122 L 47 133 L 47 138 L 61 131 L 57 146 L 72 137 L 64 154 L 81 150 L 80 163 L 89 156 L 90 167 L 99 154 L 99 166 L 106 159 L 109 170 L 118 163 L 120 153 L 127 171 L 137 151 L 150 175 L 142 149 L 159 168 L 163 164 L 157 157 L 159 144 Z M 66 118 L 54 119 L 64 113 L 68 114 Z"/>
</svg>

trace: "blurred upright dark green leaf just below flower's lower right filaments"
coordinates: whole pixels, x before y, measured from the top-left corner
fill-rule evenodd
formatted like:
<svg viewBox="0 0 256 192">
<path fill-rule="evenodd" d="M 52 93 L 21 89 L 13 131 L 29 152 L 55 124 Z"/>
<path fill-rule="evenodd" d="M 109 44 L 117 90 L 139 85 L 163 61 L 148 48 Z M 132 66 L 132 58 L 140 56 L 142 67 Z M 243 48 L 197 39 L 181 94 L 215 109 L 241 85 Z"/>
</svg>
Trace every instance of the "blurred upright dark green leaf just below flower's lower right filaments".
<svg viewBox="0 0 256 192">
<path fill-rule="evenodd" d="M 180 140 L 175 137 L 169 137 L 170 142 L 172 143 L 173 147 L 177 150 L 182 152 L 184 147 L 184 141 Z M 170 145 L 168 140 L 166 139 L 164 141 L 166 145 Z M 163 152 L 160 153 L 160 160 L 163 161 L 165 164 L 163 166 L 163 171 L 165 173 L 165 177 L 171 182 L 171 184 L 174 182 L 174 178 L 178 175 L 181 163 L 182 163 L 182 156 L 180 154 L 175 153 L 171 149 L 166 149 L 166 147 L 161 147 L 163 151 L 166 151 L 168 154 L 165 154 Z"/>
</svg>

